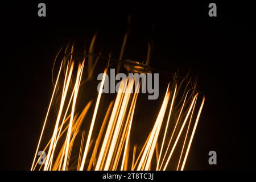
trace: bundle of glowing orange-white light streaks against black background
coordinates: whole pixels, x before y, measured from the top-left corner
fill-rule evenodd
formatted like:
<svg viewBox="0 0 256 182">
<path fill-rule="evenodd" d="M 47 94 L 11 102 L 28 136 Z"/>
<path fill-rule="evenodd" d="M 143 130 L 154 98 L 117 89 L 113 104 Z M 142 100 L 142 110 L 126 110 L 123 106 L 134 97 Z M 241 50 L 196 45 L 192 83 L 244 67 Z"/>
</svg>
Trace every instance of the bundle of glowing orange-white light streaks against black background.
<svg viewBox="0 0 256 182">
<path fill-rule="evenodd" d="M 154 107 L 154 118 L 145 117 L 147 121 L 141 123 L 151 123 L 150 129 L 143 133 L 145 140 L 135 143 L 133 136 L 141 135 L 136 133 L 138 122 L 134 117 L 136 111 L 141 110 L 138 108 L 140 94 L 131 91 L 139 90 L 141 82 L 122 81 L 112 99 L 104 100 L 103 97 L 108 97 L 102 93 L 104 81 L 113 63 L 107 58 L 100 88 L 92 93 L 86 83 L 92 81 L 97 65 L 101 64 L 98 60 L 102 59 L 92 53 L 95 39 L 96 36 L 89 53 L 81 54 L 82 59 L 73 56 L 73 46 L 57 53 L 56 60 L 61 51 L 64 56 L 55 74 L 31 170 L 183 170 L 204 105 L 204 96 L 197 91 L 197 84 L 188 76 L 180 78 L 172 74 L 164 96 L 158 98 L 160 106 L 148 106 Z M 124 46 L 119 60 L 122 60 L 123 49 Z M 119 62 L 117 69 L 128 63 Z M 148 65 L 149 60 L 145 62 L 141 65 Z M 128 71 L 133 72 L 136 66 L 129 67 Z M 95 97 L 90 98 L 93 94 Z M 88 98 L 83 100 L 81 95 Z M 147 109 L 144 107 L 141 112 Z M 43 163 L 39 164 L 40 160 Z"/>
</svg>

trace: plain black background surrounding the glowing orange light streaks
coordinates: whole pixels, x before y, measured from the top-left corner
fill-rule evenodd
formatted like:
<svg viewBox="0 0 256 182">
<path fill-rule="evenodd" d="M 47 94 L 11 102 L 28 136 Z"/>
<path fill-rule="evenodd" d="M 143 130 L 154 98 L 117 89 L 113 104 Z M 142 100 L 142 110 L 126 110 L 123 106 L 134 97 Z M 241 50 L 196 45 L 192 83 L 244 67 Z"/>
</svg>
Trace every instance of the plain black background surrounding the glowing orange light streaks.
<svg viewBox="0 0 256 182">
<path fill-rule="evenodd" d="M 189 69 L 199 78 L 205 106 L 185 169 L 255 169 L 253 5 L 215 2 L 217 17 L 203 2 L 50 2 L 46 18 L 38 3 L 1 3 L 0 169 L 30 169 L 52 92 L 57 49 L 71 40 L 118 58 L 127 17 L 132 16 L 126 57 L 146 55 L 154 38 L 151 65 L 172 72 Z M 152 34 L 152 25 L 155 31 Z M 217 165 L 208 152 L 217 152 Z"/>
</svg>

